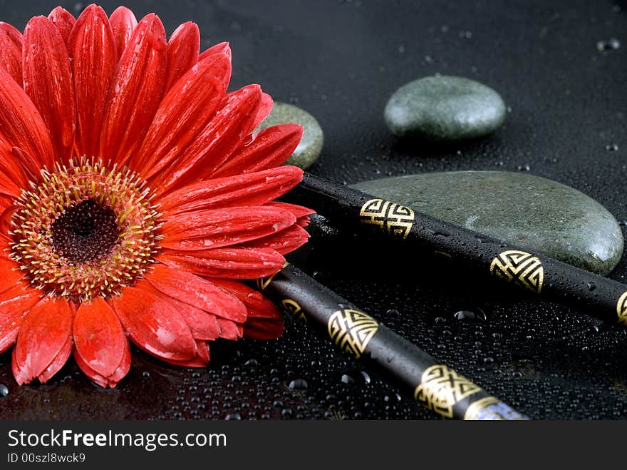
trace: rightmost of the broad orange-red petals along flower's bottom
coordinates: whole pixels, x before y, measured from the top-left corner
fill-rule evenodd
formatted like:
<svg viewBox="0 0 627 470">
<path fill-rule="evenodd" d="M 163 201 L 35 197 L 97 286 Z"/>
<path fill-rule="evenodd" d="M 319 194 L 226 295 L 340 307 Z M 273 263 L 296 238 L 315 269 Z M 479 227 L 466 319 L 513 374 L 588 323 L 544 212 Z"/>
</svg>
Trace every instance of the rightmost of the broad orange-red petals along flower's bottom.
<svg viewBox="0 0 627 470">
<path fill-rule="evenodd" d="M 165 359 L 185 361 L 196 354 L 190 328 L 166 297 L 142 289 L 145 281 L 113 297 L 120 322 L 138 347 Z"/>
</svg>

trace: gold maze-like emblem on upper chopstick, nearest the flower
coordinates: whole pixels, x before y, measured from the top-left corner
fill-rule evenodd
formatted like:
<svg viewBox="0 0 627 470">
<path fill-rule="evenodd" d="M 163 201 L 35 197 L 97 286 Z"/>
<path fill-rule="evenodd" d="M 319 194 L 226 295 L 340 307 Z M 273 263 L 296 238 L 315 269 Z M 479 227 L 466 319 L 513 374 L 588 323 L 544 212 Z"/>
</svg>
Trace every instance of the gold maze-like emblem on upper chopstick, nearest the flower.
<svg viewBox="0 0 627 470">
<path fill-rule="evenodd" d="M 414 224 L 415 213 L 389 200 L 371 199 L 361 206 L 359 217 L 363 224 L 378 225 L 387 233 L 406 238 Z"/>
</svg>

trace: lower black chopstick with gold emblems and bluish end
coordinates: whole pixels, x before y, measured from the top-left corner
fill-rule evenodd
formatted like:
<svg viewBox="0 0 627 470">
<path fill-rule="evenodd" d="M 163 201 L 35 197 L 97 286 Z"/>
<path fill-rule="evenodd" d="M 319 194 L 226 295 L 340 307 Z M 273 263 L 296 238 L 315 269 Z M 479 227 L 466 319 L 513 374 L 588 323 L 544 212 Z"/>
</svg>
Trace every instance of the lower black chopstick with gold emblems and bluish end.
<svg viewBox="0 0 627 470">
<path fill-rule="evenodd" d="M 292 265 L 256 286 L 440 417 L 527 419 Z"/>
</svg>

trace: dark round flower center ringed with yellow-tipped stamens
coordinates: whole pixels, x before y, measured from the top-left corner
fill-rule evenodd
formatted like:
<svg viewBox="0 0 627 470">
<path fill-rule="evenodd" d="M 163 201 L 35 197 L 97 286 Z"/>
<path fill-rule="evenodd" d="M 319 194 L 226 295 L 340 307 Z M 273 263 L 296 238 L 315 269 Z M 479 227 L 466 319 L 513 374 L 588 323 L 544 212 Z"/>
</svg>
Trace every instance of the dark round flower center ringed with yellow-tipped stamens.
<svg viewBox="0 0 627 470">
<path fill-rule="evenodd" d="M 44 170 L 41 183 L 16 200 L 11 257 L 51 295 L 81 302 L 118 294 L 143 275 L 158 248 L 151 200 L 138 175 L 99 160 Z"/>
</svg>

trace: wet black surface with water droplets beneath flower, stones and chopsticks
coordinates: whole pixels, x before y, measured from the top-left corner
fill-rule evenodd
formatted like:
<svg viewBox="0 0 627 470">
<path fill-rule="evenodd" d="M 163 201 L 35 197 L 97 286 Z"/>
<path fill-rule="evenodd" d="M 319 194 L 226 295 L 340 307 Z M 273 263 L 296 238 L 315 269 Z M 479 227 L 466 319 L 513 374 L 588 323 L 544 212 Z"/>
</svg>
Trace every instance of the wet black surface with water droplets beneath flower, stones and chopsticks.
<svg viewBox="0 0 627 470">
<path fill-rule="evenodd" d="M 260 83 L 312 113 L 325 147 L 311 172 L 346 183 L 432 170 L 529 171 L 571 185 L 627 220 L 625 1 L 128 1 L 167 31 L 196 21 L 203 46 L 230 41 L 232 88 Z M 70 11 L 84 5 L 61 2 Z M 23 28 L 45 1 L 0 1 Z M 111 2 L 103 2 L 110 12 Z M 598 46 L 614 44 L 618 48 Z M 603 50 L 600 50 L 603 49 Z M 433 73 L 467 76 L 511 108 L 489 138 L 434 148 L 393 137 L 383 107 Z M 627 331 L 586 312 L 475 285 L 403 258 L 357 270 L 313 245 L 299 265 L 492 394 L 541 419 L 627 417 Z M 622 260 L 609 277 L 624 280 Z M 465 312 L 460 314 L 460 312 Z M 471 315 L 472 314 L 472 315 Z M 135 352 L 128 377 L 100 389 L 72 361 L 45 385 L 17 387 L 0 355 L 0 418 L 433 419 L 410 397 L 286 318 L 274 342 L 219 342 L 207 369 Z M 3 395 L 6 395 L 2 397 Z"/>
</svg>

